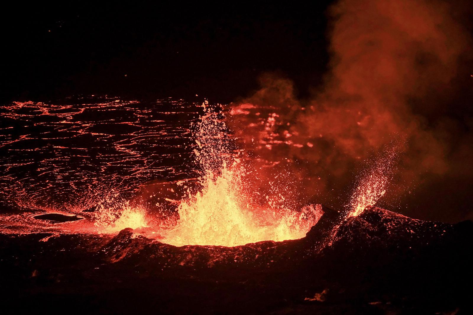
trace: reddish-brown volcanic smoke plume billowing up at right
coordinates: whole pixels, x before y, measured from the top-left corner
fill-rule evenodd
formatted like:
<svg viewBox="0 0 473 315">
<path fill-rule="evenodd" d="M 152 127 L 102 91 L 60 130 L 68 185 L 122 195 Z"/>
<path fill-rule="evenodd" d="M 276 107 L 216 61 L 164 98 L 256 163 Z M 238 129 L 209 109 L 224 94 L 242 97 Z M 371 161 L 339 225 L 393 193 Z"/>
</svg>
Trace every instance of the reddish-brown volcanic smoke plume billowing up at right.
<svg viewBox="0 0 473 315">
<path fill-rule="evenodd" d="M 462 102 L 455 94 L 472 79 L 465 70 L 471 40 L 459 8 L 466 10 L 443 1 L 339 1 L 329 9 L 331 62 L 324 85 L 298 99 L 291 80 L 263 75 L 262 88 L 232 111 L 234 129 L 250 127 L 237 136 L 267 160 L 295 162 L 310 193 L 337 207 L 346 202 L 337 195 L 350 189 L 349 175 L 393 147 L 400 158 L 387 194 L 391 202 L 421 184 L 427 190 L 436 183 L 442 194 L 448 183 L 471 185 L 472 119 L 447 118 Z M 260 123 L 248 123 L 251 113 Z M 287 147 L 271 150 L 275 143 Z"/>
</svg>

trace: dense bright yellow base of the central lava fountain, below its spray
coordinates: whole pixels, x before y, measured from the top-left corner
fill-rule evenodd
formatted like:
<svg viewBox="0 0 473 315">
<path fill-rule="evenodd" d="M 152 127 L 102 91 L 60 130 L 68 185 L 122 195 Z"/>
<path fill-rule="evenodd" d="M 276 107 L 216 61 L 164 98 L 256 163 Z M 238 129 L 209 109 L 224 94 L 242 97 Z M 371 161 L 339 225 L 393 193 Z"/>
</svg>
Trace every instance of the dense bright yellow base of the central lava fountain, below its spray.
<svg viewBox="0 0 473 315">
<path fill-rule="evenodd" d="M 179 205 L 179 221 L 163 240 L 175 246 L 236 246 L 263 240 L 303 238 L 322 216 L 320 208 L 309 212 L 262 209 L 248 204 L 242 190 L 241 168 L 224 166 L 220 176 L 209 173 L 201 192 Z"/>
</svg>

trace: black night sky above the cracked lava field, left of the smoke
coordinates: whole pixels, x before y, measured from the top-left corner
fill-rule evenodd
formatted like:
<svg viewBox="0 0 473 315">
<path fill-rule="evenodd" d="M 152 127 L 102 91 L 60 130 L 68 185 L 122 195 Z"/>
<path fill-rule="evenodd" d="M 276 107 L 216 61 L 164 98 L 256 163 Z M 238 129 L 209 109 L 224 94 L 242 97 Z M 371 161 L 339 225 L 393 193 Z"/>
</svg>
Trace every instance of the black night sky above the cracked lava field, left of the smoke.
<svg viewBox="0 0 473 315">
<path fill-rule="evenodd" d="M 1 100 L 200 94 L 231 102 L 257 89 L 265 71 L 291 77 L 303 95 L 327 65 L 327 5 L 18 4 L 1 17 Z"/>
</svg>

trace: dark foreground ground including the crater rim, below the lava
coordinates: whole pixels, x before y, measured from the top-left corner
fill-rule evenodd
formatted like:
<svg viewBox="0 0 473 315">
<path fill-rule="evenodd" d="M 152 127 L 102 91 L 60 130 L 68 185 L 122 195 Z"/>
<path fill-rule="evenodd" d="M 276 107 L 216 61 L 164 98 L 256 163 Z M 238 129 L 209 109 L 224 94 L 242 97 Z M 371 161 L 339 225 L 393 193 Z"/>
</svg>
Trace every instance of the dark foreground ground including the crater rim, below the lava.
<svg viewBox="0 0 473 315">
<path fill-rule="evenodd" d="M 3 314 L 472 314 L 473 223 L 324 208 L 305 238 L 174 247 L 0 235 Z"/>
</svg>

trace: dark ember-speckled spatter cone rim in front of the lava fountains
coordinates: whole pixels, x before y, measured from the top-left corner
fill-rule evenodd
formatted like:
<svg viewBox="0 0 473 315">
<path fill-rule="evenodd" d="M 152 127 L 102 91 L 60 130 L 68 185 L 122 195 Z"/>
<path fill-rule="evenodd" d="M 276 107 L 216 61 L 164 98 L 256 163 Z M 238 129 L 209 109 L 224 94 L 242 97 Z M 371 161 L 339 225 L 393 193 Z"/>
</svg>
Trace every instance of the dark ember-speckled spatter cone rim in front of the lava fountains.
<svg viewBox="0 0 473 315">
<path fill-rule="evenodd" d="M 377 207 L 369 207 L 356 217 L 323 207 L 324 214 L 307 236 L 286 241 L 261 241 L 235 247 L 187 245 L 175 247 L 122 230 L 102 252 L 110 262 L 127 261 L 166 268 L 182 266 L 251 266 L 290 267 L 296 262 L 337 261 L 343 269 L 376 265 L 378 259 L 389 264 L 389 257 L 411 257 L 429 246 L 448 249 L 448 244 L 473 240 L 470 221 L 450 225 L 420 221 Z M 412 255 L 411 255 L 411 254 Z M 421 255 L 420 255 L 421 256 Z M 418 258 L 420 259 L 420 258 Z M 347 261 L 353 264 L 346 266 Z"/>
</svg>

